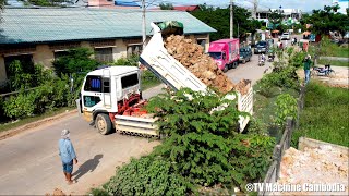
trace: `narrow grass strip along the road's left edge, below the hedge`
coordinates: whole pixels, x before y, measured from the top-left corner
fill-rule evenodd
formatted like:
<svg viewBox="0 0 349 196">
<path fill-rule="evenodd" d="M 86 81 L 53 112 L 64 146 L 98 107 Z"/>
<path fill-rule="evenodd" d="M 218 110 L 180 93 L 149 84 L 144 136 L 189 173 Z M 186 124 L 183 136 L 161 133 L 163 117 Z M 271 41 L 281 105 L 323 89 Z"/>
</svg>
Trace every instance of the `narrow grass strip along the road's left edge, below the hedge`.
<svg viewBox="0 0 349 196">
<path fill-rule="evenodd" d="M 60 114 L 60 113 L 64 113 L 65 110 L 72 110 L 72 109 L 73 108 L 69 108 L 69 107 L 59 108 L 59 109 L 56 109 L 56 110 L 52 110 L 52 111 L 47 111 L 47 112 L 45 112 L 44 114 L 40 114 L 40 115 L 28 117 L 28 118 L 25 118 L 25 119 L 21 119 L 19 121 L 0 124 L 0 132 L 8 131 L 8 130 L 11 130 L 11 128 L 15 128 L 15 127 L 19 127 L 19 126 L 22 126 L 22 125 L 25 125 L 25 124 L 28 124 L 28 123 L 32 123 L 32 122 L 35 122 L 35 121 L 43 120 L 45 118 L 50 118 L 50 117 L 53 117 L 53 115 L 57 115 L 57 114 Z"/>
</svg>

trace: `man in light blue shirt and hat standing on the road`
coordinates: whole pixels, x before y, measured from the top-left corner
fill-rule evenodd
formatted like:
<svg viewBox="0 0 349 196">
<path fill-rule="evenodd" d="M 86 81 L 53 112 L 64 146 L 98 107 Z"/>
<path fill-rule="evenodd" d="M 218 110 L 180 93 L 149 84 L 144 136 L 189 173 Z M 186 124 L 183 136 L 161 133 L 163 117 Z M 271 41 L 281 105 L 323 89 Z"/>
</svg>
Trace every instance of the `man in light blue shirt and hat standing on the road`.
<svg viewBox="0 0 349 196">
<path fill-rule="evenodd" d="M 68 184 L 73 184 L 72 173 L 73 163 L 77 164 L 77 159 L 72 142 L 69 139 L 69 130 L 63 130 L 61 133 L 61 139 L 59 139 L 59 155 L 63 164 L 63 173 Z"/>
</svg>

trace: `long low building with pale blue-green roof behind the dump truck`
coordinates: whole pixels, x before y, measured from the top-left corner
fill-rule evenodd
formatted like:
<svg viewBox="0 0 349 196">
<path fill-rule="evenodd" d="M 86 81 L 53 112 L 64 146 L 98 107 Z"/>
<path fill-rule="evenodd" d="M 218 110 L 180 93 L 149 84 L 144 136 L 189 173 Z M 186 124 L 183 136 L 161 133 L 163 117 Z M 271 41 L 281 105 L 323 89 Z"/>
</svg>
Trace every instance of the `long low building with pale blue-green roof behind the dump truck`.
<svg viewBox="0 0 349 196">
<path fill-rule="evenodd" d="M 40 8 L 4 9 L 0 22 L 0 85 L 7 81 L 14 60 L 46 68 L 71 48 L 87 47 L 103 62 L 142 51 L 142 11 L 123 9 Z M 147 40 L 151 22 L 179 21 L 184 35 L 208 48 L 209 33 L 202 21 L 181 11 L 146 12 Z"/>
</svg>

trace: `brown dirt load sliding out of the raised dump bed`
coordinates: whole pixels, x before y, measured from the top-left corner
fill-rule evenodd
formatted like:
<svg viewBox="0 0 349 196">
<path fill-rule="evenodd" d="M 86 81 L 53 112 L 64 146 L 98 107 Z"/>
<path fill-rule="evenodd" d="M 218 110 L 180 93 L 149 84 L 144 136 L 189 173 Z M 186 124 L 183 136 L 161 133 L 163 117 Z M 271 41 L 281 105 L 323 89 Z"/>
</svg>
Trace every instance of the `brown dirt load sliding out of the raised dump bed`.
<svg viewBox="0 0 349 196">
<path fill-rule="evenodd" d="M 231 83 L 222 71 L 218 69 L 216 62 L 209 56 L 204 54 L 203 47 L 192 39 L 185 39 L 184 36 L 171 35 L 167 37 L 165 48 L 205 85 L 224 94 L 232 89 L 241 90 L 243 89 L 242 86 L 248 83 L 248 81 L 240 82 L 241 84 L 239 83 L 238 85 Z M 245 90 L 240 93 L 243 94 Z"/>
</svg>

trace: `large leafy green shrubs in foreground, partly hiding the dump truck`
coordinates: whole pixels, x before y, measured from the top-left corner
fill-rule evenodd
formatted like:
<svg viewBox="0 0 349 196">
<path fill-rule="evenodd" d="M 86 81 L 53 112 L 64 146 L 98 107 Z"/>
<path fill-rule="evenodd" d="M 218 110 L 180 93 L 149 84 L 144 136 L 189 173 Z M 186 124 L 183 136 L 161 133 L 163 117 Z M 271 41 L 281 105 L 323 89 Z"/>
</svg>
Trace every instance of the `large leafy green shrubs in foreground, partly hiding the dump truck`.
<svg viewBox="0 0 349 196">
<path fill-rule="evenodd" d="M 275 139 L 254 132 L 237 132 L 239 115 L 225 95 L 181 89 L 149 100 L 158 118 L 163 144 L 140 159 L 117 169 L 103 186 L 111 195 L 205 194 L 205 187 L 232 194 L 264 177 Z M 180 105 L 179 105 L 180 102 Z M 224 110 L 213 110 L 225 103 Z M 94 191 L 101 193 L 103 191 Z"/>
</svg>

